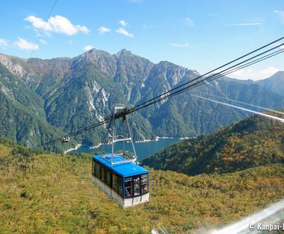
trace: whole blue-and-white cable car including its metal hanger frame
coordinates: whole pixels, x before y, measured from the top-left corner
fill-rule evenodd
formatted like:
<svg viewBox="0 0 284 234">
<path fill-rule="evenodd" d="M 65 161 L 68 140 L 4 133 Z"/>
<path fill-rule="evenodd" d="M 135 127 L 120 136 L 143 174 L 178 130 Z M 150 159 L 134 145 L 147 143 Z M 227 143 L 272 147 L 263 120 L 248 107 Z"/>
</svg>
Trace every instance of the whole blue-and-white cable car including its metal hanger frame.
<svg viewBox="0 0 284 234">
<path fill-rule="evenodd" d="M 104 138 L 102 152 L 92 157 L 92 182 L 123 207 L 136 206 L 149 201 L 149 172 L 138 165 L 136 150 L 129 121 L 122 115 L 122 128 L 116 127 L 116 114 L 123 113 L 124 105 L 114 105 Z M 129 136 L 126 137 L 126 128 Z M 122 132 L 116 135 L 116 131 Z M 111 132 L 111 133 L 110 133 Z M 114 143 L 122 141 L 122 153 L 114 152 Z M 133 155 L 125 150 L 125 142 L 131 142 Z M 104 146 L 111 144 L 111 153 L 103 153 Z"/>
</svg>

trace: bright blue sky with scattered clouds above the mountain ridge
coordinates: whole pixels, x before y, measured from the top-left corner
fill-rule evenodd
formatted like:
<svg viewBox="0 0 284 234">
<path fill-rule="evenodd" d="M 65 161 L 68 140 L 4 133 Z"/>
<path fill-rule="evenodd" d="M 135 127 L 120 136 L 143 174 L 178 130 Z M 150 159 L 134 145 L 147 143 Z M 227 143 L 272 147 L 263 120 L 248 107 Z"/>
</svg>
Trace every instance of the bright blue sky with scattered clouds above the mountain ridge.
<svg viewBox="0 0 284 234">
<path fill-rule="evenodd" d="M 54 3 L 2 0 L 0 52 L 49 59 L 125 48 L 202 74 L 284 34 L 283 0 L 58 0 L 48 17 Z M 267 78 L 284 70 L 283 58 L 230 77 Z"/>
</svg>

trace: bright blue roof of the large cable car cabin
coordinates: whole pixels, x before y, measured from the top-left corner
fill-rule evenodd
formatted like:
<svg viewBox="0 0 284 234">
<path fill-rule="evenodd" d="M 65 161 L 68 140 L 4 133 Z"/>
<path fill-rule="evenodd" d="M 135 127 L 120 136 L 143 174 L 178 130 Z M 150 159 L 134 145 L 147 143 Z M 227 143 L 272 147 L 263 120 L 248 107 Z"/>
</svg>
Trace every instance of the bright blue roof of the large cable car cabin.
<svg viewBox="0 0 284 234">
<path fill-rule="evenodd" d="M 99 155 L 93 156 L 93 159 L 97 162 L 102 163 L 105 167 L 112 169 L 116 174 L 119 174 L 122 177 L 131 177 L 136 174 L 145 174 L 148 173 L 148 169 L 140 167 L 133 162 L 124 162 L 116 165 L 112 165 L 111 167 L 111 154 L 104 154 L 103 156 L 108 156 L 100 159 Z M 119 155 L 114 155 L 114 162 L 120 162 L 125 160 L 124 157 Z"/>
</svg>

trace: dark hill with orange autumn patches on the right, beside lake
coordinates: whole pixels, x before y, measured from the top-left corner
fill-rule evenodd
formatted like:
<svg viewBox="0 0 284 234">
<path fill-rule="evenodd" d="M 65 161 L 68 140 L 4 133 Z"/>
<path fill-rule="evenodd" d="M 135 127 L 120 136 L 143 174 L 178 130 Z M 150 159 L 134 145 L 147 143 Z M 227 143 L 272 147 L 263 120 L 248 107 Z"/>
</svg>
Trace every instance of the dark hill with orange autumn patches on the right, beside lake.
<svg viewBox="0 0 284 234">
<path fill-rule="evenodd" d="M 252 116 L 212 135 L 165 147 L 143 160 L 142 165 L 195 175 L 236 172 L 274 163 L 284 163 L 284 124 Z"/>
</svg>

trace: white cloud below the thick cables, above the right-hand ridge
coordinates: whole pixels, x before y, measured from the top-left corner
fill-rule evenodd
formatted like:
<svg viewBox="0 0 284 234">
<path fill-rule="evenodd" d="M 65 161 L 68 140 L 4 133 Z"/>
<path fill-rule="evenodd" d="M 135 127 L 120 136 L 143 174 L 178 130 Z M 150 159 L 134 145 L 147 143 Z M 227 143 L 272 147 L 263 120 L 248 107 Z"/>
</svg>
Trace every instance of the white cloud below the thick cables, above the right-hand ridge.
<svg viewBox="0 0 284 234">
<path fill-rule="evenodd" d="M 255 71 L 253 69 L 239 69 L 236 72 L 233 72 L 229 74 L 229 77 L 233 77 L 236 79 L 253 79 L 253 80 L 259 80 L 259 79 L 266 79 L 268 77 L 271 77 L 273 74 L 278 72 L 279 69 L 276 67 L 266 67 L 265 69 L 262 69 L 260 71 Z"/>
</svg>

